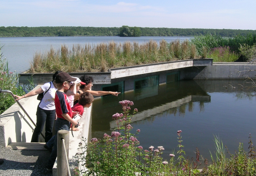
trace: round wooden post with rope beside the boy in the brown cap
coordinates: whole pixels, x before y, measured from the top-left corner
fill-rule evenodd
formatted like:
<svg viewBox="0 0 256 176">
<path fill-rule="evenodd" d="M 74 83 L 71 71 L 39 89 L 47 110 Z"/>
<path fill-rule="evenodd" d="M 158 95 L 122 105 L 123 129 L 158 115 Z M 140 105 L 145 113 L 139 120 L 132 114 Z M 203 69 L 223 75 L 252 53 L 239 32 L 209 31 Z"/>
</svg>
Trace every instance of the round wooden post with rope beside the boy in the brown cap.
<svg viewBox="0 0 256 176">
<path fill-rule="evenodd" d="M 65 140 L 65 147 L 68 156 L 68 146 L 69 146 L 69 131 L 59 130 L 57 134 L 58 147 L 57 147 L 57 176 L 68 175 L 68 166 L 65 156 L 65 150 L 63 146 L 62 139 Z"/>
</svg>

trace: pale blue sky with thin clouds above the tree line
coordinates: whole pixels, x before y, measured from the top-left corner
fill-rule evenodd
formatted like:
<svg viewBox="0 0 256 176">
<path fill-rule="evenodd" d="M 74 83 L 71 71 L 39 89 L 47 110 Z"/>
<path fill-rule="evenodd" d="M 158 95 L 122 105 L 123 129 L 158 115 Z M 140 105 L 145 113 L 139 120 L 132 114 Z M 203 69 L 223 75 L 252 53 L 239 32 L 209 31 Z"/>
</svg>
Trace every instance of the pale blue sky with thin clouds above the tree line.
<svg viewBox="0 0 256 176">
<path fill-rule="evenodd" d="M 256 30 L 256 0 L 0 0 L 0 26 Z"/>
</svg>

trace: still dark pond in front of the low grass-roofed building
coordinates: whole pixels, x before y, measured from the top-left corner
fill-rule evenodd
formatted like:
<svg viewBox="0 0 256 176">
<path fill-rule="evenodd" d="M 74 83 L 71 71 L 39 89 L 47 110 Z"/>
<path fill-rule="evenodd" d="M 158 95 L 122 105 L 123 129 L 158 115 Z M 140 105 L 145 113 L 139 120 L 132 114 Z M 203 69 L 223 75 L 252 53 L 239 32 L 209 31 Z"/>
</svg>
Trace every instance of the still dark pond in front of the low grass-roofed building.
<svg viewBox="0 0 256 176">
<path fill-rule="evenodd" d="M 230 86 L 226 88 L 229 84 L 243 85 L 244 82 L 182 80 L 157 86 L 153 93 L 152 88 L 146 88 L 95 100 L 92 106 L 92 138 L 110 134 L 116 127 L 112 115 L 121 111 L 118 102 L 130 100 L 134 102 L 132 108 L 139 112 L 132 118 L 131 125 L 134 131 L 140 129 L 140 145 L 144 149 L 151 145 L 155 148 L 163 146 L 166 160 L 170 159 L 169 154 L 173 150 L 178 150 L 178 130 L 182 130 L 182 145 L 189 157 L 196 157 L 197 147 L 204 159 L 209 160 L 209 150 L 215 151 L 213 135 L 219 136 L 231 152 L 238 148 L 239 142 L 243 142 L 246 149 L 249 133 L 256 136 L 255 92 Z"/>
</svg>

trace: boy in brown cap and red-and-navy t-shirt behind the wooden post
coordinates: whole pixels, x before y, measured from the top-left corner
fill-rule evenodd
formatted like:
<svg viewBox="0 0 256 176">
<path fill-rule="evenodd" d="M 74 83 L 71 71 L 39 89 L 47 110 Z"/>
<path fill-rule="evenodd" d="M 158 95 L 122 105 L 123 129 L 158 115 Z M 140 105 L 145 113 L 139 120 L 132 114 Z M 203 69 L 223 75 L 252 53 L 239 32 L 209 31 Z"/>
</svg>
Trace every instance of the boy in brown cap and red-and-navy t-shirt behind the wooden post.
<svg viewBox="0 0 256 176">
<path fill-rule="evenodd" d="M 64 90 L 68 90 L 71 82 L 76 81 L 76 78 L 71 77 L 68 73 L 60 72 L 55 78 L 57 84 L 57 91 L 55 93 L 55 109 L 57 114 L 57 120 L 55 122 L 55 140 L 52 149 L 51 156 L 47 162 L 46 169 L 47 171 L 52 171 L 53 165 L 57 158 L 57 134 L 59 130 L 69 131 L 70 124 L 77 125 L 77 120 L 72 118 L 78 114 L 77 112 L 72 112 L 68 98 Z"/>
</svg>

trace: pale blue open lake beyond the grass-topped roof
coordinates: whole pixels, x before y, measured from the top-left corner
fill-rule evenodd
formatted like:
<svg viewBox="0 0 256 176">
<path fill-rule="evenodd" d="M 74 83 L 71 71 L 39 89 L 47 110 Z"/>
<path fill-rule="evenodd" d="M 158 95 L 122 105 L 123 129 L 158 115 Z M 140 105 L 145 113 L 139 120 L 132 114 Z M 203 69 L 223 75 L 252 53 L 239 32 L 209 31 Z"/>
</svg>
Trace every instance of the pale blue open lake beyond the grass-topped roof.
<svg viewBox="0 0 256 176">
<path fill-rule="evenodd" d="M 3 46 L 2 57 L 9 62 L 10 71 L 21 73 L 30 68 L 36 52 L 49 51 L 51 46 L 58 50 L 61 45 L 72 49 L 73 44 L 100 44 L 116 42 L 123 44 L 125 41 L 138 42 L 139 44 L 154 40 L 159 43 L 162 39 L 170 43 L 173 40 L 185 40 L 193 37 L 118 37 L 118 36 L 77 36 L 77 37 L 0 37 L 0 46 Z"/>
</svg>

